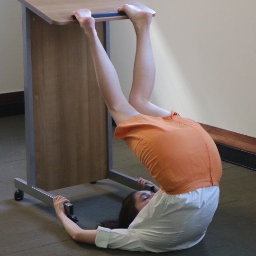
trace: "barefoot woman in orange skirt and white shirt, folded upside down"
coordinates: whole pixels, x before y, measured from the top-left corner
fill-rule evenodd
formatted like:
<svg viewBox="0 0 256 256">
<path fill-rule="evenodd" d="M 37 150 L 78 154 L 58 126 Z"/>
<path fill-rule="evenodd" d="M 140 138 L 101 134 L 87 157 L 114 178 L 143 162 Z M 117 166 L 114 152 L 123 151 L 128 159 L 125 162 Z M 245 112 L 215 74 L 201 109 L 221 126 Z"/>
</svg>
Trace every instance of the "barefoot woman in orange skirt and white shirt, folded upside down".
<svg viewBox="0 0 256 256">
<path fill-rule="evenodd" d="M 63 203 L 69 201 L 61 196 L 54 198 L 55 210 L 76 241 L 134 251 L 189 248 L 204 237 L 218 205 L 219 153 L 198 123 L 150 103 L 155 82 L 149 37 L 152 14 L 130 5 L 121 6 L 118 11 L 126 12 L 137 35 L 129 102 L 97 37 L 91 12 L 83 9 L 73 15 L 89 39 L 99 89 L 117 124 L 115 138 L 126 141 L 161 189 L 155 194 L 136 192 L 132 195 L 137 213 L 135 219 L 127 221 L 128 228 L 80 229 L 66 217 Z"/>
</svg>

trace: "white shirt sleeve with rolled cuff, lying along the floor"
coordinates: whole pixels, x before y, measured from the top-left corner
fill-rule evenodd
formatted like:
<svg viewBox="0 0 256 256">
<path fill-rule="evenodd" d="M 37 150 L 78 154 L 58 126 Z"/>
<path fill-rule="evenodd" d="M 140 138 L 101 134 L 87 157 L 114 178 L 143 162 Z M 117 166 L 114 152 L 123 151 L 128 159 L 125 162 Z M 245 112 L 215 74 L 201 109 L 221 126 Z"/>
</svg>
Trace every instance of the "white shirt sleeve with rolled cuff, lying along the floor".
<svg viewBox="0 0 256 256">
<path fill-rule="evenodd" d="M 129 251 L 145 251 L 135 229 L 106 229 L 98 227 L 95 239 L 97 247 L 122 249 Z"/>
</svg>

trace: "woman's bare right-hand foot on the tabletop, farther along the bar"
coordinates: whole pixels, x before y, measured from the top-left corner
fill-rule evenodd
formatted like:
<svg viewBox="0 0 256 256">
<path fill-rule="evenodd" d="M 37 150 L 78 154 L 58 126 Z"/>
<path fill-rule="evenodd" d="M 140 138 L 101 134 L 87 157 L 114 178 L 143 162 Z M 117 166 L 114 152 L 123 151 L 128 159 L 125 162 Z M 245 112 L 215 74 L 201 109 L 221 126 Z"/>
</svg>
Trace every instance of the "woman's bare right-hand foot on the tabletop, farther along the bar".
<svg viewBox="0 0 256 256">
<path fill-rule="evenodd" d="M 145 25 L 149 26 L 153 17 L 151 12 L 143 11 L 136 6 L 128 4 L 122 5 L 117 11 L 124 11 L 135 28 L 140 28 Z"/>
</svg>

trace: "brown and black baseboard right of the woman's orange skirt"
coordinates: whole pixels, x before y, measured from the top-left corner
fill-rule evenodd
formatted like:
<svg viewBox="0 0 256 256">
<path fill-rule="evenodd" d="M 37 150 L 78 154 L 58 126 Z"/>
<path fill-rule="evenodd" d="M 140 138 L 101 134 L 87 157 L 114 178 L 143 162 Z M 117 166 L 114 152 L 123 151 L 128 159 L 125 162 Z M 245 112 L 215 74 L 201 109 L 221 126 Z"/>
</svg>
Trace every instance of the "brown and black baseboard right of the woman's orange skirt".
<svg viewBox="0 0 256 256">
<path fill-rule="evenodd" d="M 201 124 L 215 141 L 225 162 L 256 171 L 256 138 Z"/>
</svg>

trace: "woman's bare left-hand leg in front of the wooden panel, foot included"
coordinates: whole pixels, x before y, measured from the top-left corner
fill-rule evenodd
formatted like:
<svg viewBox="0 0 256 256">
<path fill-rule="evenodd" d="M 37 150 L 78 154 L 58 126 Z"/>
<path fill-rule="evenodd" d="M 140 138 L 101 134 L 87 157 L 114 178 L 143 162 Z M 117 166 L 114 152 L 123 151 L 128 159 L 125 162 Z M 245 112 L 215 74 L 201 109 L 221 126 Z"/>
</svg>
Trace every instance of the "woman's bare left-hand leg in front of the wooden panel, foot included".
<svg viewBox="0 0 256 256">
<path fill-rule="evenodd" d="M 97 36 L 91 11 L 80 9 L 74 11 L 73 15 L 89 40 L 98 86 L 116 124 L 140 114 L 128 103 L 121 91 L 116 70 Z"/>
</svg>

